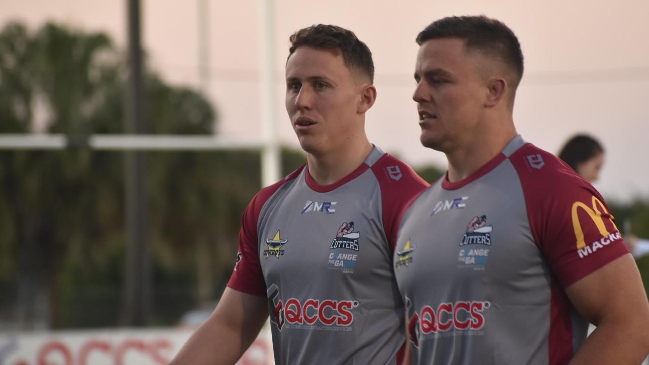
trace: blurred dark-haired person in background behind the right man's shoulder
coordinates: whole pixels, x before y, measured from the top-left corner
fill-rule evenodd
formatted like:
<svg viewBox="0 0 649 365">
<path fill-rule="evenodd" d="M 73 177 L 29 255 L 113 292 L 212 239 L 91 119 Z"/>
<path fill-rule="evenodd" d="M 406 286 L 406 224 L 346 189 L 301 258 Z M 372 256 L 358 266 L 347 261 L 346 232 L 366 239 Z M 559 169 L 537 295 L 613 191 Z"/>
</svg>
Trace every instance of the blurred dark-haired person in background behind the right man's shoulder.
<svg viewBox="0 0 649 365">
<path fill-rule="evenodd" d="M 576 134 L 570 138 L 557 156 L 591 184 L 599 179 L 600 170 L 604 166 L 604 147 L 598 140 L 587 134 Z M 649 240 L 631 234 L 628 222 L 625 222 L 624 233 L 624 243 L 629 247 L 634 258 L 649 254 Z"/>
</svg>

